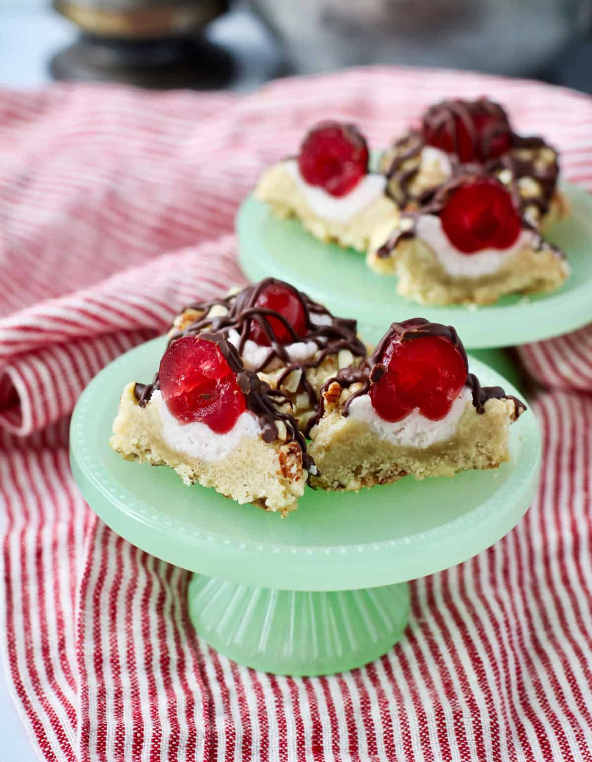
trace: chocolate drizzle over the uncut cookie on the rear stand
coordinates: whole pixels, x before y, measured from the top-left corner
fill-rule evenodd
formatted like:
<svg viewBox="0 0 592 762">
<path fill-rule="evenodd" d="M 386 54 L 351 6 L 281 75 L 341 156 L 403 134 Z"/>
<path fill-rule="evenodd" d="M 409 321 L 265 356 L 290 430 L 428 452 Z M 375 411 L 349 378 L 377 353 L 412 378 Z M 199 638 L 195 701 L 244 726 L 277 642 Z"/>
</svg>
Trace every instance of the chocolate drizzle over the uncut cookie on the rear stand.
<svg viewBox="0 0 592 762">
<path fill-rule="evenodd" d="M 479 132 L 476 130 L 475 123 L 473 122 L 473 116 L 476 114 L 493 117 L 491 123 L 485 124 Z M 422 149 L 427 145 L 425 142 L 425 132 L 430 131 L 433 133 L 444 130 L 450 136 L 455 149 L 458 151 L 459 135 L 455 117 L 458 117 L 466 128 L 466 133 L 469 135 L 473 145 L 473 155 L 488 157 L 485 158 L 485 162 L 482 162 L 482 167 L 486 173 L 492 174 L 508 169 L 512 175 L 511 182 L 516 185 L 516 188 L 520 178 L 525 177 L 533 178 L 533 180 L 540 184 L 542 194 L 538 197 L 523 199 L 520 197 L 520 194 L 518 194 L 518 197 L 520 199 L 520 206 L 533 205 L 536 206 L 541 215 L 545 214 L 549 210 L 549 205 L 555 193 L 557 178 L 559 177 L 559 162 L 556 158 L 556 152 L 555 162 L 545 166 L 539 165 L 536 157 L 528 159 L 520 157 L 520 149 L 536 150 L 552 148 L 543 138 L 517 135 L 511 128 L 508 114 L 506 114 L 504 108 L 494 101 L 489 101 L 488 98 L 479 98 L 476 101 L 447 100 L 431 106 L 423 117 L 422 130 L 411 130 L 406 136 L 393 143 L 391 150 L 394 151 L 395 155 L 384 172 L 389 181 L 387 183 L 387 195 L 401 207 L 406 207 L 410 202 L 415 202 L 422 206 L 431 200 L 437 190 L 436 188 L 426 189 L 419 197 L 414 197 L 410 189 L 415 175 L 419 172 L 419 158 Z M 489 158 L 492 141 L 502 133 L 509 133 L 510 149 L 499 157 Z M 408 145 L 406 146 L 406 144 Z M 406 146 L 406 149 L 401 150 L 402 146 Z M 457 155 L 449 154 L 448 156 L 454 178 L 458 174 L 463 173 L 464 167 Z M 403 165 L 409 162 L 411 158 L 417 158 L 418 161 L 415 165 L 404 169 Z"/>
</svg>

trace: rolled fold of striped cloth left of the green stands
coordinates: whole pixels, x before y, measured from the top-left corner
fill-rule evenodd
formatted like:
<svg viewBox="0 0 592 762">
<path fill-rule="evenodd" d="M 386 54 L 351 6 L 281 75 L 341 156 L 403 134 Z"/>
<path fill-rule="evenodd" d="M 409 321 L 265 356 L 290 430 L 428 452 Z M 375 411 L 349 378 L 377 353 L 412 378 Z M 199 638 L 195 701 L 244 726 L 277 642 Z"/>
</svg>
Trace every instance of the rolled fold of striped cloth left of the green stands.
<svg viewBox="0 0 592 762">
<path fill-rule="evenodd" d="M 0 321 L 0 425 L 24 436 L 71 413 L 104 365 L 166 331 L 183 305 L 244 282 L 223 235 Z"/>
</svg>

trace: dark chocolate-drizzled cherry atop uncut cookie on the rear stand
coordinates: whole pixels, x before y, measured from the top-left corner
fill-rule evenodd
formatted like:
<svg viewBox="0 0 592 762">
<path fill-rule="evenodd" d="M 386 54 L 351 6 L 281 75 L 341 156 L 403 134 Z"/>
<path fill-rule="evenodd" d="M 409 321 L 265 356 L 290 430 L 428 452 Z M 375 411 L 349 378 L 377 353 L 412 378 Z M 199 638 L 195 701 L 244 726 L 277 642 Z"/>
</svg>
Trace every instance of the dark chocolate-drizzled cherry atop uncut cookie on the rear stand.
<svg viewBox="0 0 592 762">
<path fill-rule="evenodd" d="M 436 106 L 430 113 L 433 117 L 439 116 L 444 108 Z M 464 119 L 450 112 L 447 119 L 438 119 L 437 123 L 438 126 L 433 126 L 429 118 L 424 120 L 425 142 L 447 153 L 455 153 L 463 164 L 498 158 L 511 149 L 510 125 L 501 107 L 498 114 L 492 114 L 478 107 L 475 109 L 473 104 L 473 109 L 466 110 Z"/>
</svg>

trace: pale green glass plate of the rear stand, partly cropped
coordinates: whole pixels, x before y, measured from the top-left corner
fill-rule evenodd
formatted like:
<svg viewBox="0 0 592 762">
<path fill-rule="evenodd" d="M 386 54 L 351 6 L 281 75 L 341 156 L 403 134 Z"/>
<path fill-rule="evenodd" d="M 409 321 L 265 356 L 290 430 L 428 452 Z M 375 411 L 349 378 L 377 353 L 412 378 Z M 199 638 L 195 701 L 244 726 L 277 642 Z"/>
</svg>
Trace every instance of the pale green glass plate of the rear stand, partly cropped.
<svg viewBox="0 0 592 762">
<path fill-rule="evenodd" d="M 418 305 L 396 293 L 396 277 L 371 271 L 359 251 L 317 241 L 298 221 L 278 219 L 253 196 L 237 218 L 240 264 L 251 280 L 288 280 L 337 315 L 355 316 L 368 341 L 376 341 L 393 320 L 421 315 L 454 325 L 468 349 L 526 344 L 592 320 L 592 197 L 567 183 L 562 190 L 573 213 L 553 227 L 549 239 L 568 254 L 572 272 L 545 296 L 506 296 L 476 310 Z"/>
</svg>

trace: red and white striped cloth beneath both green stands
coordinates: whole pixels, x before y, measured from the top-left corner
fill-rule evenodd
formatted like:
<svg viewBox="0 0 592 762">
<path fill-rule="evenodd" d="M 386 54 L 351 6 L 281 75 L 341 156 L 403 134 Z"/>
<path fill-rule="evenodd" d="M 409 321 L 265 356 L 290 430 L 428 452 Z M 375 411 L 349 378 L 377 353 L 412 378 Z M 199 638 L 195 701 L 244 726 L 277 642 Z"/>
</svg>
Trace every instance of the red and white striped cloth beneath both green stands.
<svg viewBox="0 0 592 762">
<path fill-rule="evenodd" d="M 250 96 L 0 91 L 2 650 L 40 758 L 592 760 L 592 327 L 520 350 L 547 387 L 527 516 L 416 581 L 403 640 L 347 674 L 218 656 L 187 619 L 189 575 L 97 520 L 68 466 L 68 415 L 94 373 L 243 280 L 237 205 L 305 126 L 355 120 L 381 146 L 450 94 L 508 104 L 592 188 L 592 101 L 532 82 L 365 69 Z"/>
</svg>

